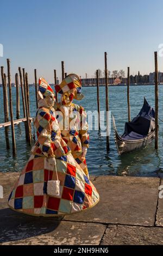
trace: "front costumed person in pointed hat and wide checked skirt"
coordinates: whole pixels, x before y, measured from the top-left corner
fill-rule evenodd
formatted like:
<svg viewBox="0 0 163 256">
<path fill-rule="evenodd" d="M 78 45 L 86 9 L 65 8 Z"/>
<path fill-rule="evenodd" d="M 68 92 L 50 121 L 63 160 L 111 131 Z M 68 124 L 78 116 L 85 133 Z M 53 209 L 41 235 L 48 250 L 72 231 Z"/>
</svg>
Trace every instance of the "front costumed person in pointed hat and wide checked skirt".
<svg viewBox="0 0 163 256">
<path fill-rule="evenodd" d="M 53 108 L 54 92 L 43 78 L 39 79 L 38 97 L 37 141 L 8 205 L 24 214 L 47 217 L 92 208 L 99 201 L 98 192 L 61 138 Z"/>
</svg>

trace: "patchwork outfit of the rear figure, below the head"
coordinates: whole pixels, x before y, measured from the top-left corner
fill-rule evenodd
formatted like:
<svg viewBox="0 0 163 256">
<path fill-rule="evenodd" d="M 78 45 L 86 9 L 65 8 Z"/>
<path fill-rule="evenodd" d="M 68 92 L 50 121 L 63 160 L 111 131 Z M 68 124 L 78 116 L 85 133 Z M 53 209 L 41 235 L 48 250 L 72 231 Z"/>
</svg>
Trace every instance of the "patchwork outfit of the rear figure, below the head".
<svg viewBox="0 0 163 256">
<path fill-rule="evenodd" d="M 86 111 L 82 106 L 71 103 L 70 106 L 55 104 L 57 120 L 61 130 L 61 136 L 71 149 L 71 153 L 84 173 L 88 174 L 86 159 L 83 156 L 82 148 L 89 148 L 88 125 L 86 121 Z M 65 115 L 68 117 L 68 127 L 65 125 Z"/>
</svg>

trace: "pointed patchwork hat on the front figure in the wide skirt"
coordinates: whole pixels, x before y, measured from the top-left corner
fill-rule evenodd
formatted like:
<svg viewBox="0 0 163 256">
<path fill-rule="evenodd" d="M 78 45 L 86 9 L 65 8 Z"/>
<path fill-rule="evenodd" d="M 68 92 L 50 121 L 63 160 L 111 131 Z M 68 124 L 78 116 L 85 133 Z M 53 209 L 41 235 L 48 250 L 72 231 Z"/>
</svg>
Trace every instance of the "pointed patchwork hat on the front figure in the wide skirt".
<svg viewBox="0 0 163 256">
<path fill-rule="evenodd" d="M 53 89 L 51 88 L 51 86 L 49 86 L 49 84 L 43 77 L 40 77 L 39 78 L 39 90 L 38 90 L 38 95 L 39 95 L 40 99 L 45 99 L 45 97 L 47 97 L 51 94 L 54 94 Z"/>
</svg>

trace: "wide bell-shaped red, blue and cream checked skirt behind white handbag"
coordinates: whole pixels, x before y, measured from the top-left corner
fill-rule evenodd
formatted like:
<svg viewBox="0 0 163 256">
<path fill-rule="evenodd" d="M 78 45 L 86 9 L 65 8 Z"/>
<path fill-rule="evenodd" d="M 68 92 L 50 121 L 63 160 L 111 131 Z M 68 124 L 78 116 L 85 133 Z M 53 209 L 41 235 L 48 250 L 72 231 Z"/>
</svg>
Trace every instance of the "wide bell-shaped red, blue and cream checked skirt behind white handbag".
<svg viewBox="0 0 163 256">
<path fill-rule="evenodd" d="M 71 154 L 67 155 L 66 161 L 57 159 L 60 196 L 48 196 L 47 181 L 48 178 L 55 180 L 56 172 L 50 170 L 48 175 L 46 161 L 43 157 L 30 157 L 10 194 L 9 206 L 12 209 L 30 215 L 53 216 L 89 209 L 98 202 L 95 186 Z"/>
</svg>

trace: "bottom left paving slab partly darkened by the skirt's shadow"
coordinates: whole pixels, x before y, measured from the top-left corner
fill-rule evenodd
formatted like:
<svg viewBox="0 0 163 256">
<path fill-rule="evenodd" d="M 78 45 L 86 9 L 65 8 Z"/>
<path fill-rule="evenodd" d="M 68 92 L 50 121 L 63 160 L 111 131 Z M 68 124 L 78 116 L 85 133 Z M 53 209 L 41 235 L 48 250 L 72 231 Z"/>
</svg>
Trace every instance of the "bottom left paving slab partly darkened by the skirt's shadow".
<svg viewBox="0 0 163 256">
<path fill-rule="evenodd" d="M 99 245 L 106 226 L 0 210 L 0 245 Z"/>
</svg>

